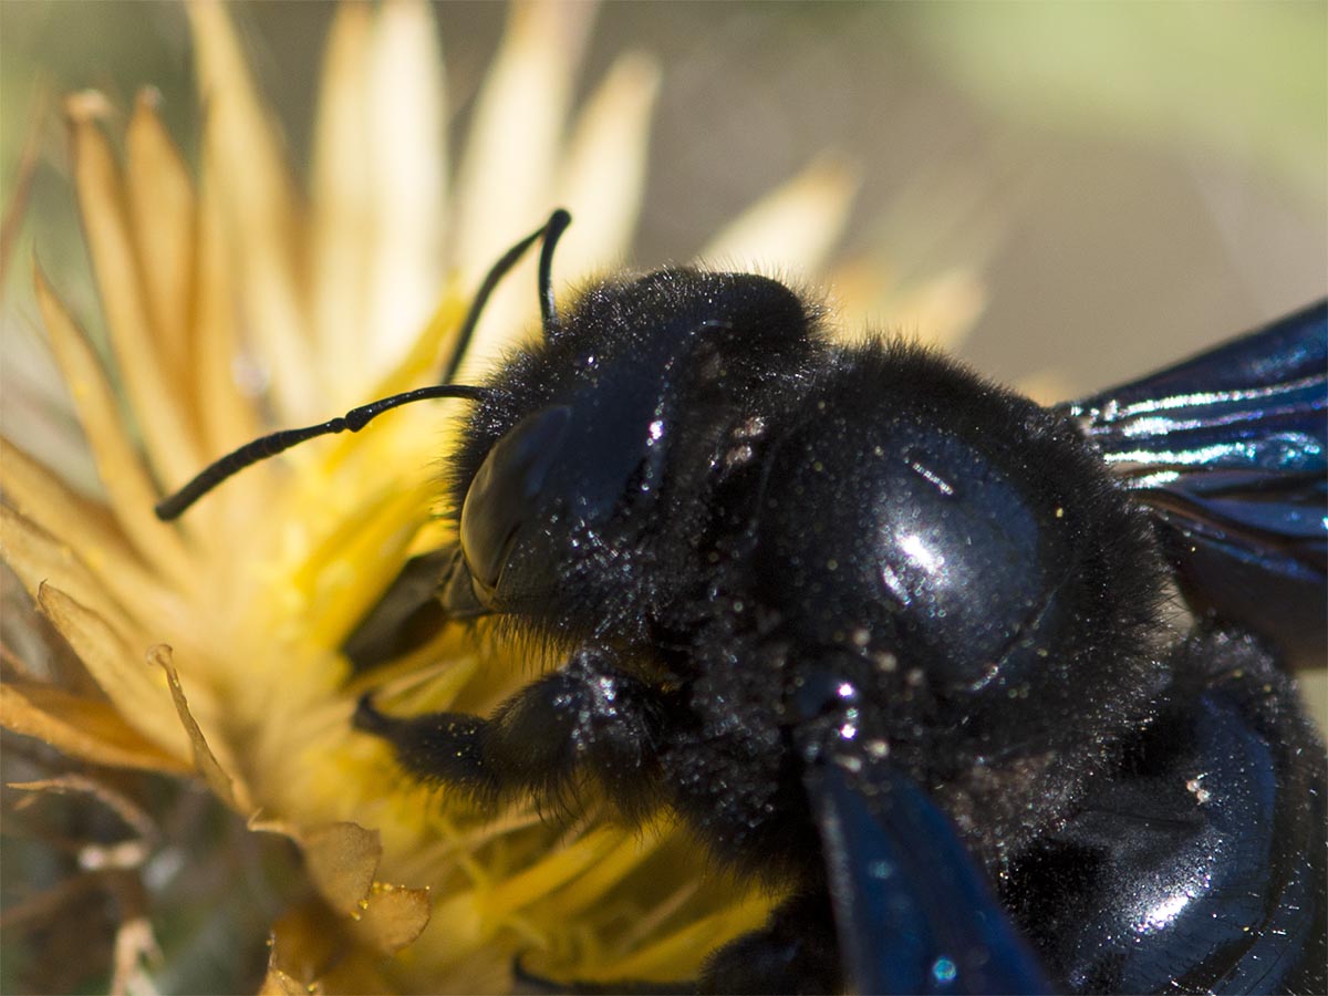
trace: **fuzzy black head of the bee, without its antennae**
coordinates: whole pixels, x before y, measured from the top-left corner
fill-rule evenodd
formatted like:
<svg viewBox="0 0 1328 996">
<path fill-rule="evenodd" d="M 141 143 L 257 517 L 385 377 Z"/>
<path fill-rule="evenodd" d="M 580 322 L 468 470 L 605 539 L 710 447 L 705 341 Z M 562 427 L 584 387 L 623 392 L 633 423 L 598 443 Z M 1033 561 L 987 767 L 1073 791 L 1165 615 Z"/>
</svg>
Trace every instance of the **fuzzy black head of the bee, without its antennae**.
<svg viewBox="0 0 1328 996">
<path fill-rule="evenodd" d="M 749 274 L 661 270 L 583 291 L 466 417 L 445 610 L 570 639 L 648 627 L 696 574 L 729 428 L 794 376 L 814 324 L 791 290 Z"/>
</svg>

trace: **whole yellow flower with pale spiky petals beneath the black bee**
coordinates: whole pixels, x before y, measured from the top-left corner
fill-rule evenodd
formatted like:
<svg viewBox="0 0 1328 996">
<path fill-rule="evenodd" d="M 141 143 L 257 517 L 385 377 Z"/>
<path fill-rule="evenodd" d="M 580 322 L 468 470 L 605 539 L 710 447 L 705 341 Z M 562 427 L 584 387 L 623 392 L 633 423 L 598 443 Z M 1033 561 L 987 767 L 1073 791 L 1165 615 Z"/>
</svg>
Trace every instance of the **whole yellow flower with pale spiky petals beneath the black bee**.
<svg viewBox="0 0 1328 996">
<path fill-rule="evenodd" d="M 485 712 L 547 664 L 450 629 L 371 676 L 339 651 L 404 560 L 445 540 L 433 506 L 446 402 L 256 466 L 179 525 L 153 515 L 163 493 L 271 424 L 430 382 L 479 278 L 555 205 L 575 218 L 559 282 L 627 255 L 659 74 L 623 54 L 572 113 L 568 53 L 588 9 L 511 9 L 456 178 L 424 4 L 341 8 L 307 195 L 220 5 L 190 8 L 206 122 L 197 177 L 151 94 L 133 110 L 124 162 L 104 130 L 108 101 L 66 102 L 112 369 L 40 270 L 37 299 L 102 494 L 68 486 L 25 433 L 5 441 L 4 556 L 77 665 L 13 661 L 0 718 L 97 766 L 32 791 L 86 791 L 153 827 L 96 772 L 165 773 L 206 785 L 252 833 L 299 845 L 320 899 L 274 923 L 271 991 L 505 991 L 518 952 L 554 977 L 687 977 L 773 899 L 709 867 L 668 822 L 555 826 L 530 805 L 486 817 L 408 784 L 380 742 L 352 732 L 369 687 L 400 712 Z M 701 255 L 813 272 L 854 186 L 843 163 L 814 162 Z M 530 266 L 489 303 L 461 380 L 531 327 Z M 967 272 L 915 291 L 855 272 L 841 270 L 839 297 L 879 307 L 884 288 L 904 328 L 957 335 L 980 307 Z M 137 841 L 150 849 L 157 834 Z M 122 861 L 146 878 L 145 854 Z M 151 987 L 139 956 L 155 950 L 146 924 L 162 911 L 147 896 L 118 934 L 121 991 Z"/>
</svg>

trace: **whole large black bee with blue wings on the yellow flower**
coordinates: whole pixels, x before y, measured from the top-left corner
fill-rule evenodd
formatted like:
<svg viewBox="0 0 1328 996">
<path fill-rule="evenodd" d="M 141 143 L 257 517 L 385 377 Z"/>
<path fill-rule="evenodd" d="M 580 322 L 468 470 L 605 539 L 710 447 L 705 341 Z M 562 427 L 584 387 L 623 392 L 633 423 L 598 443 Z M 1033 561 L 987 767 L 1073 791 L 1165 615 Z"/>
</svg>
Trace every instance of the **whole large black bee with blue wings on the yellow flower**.
<svg viewBox="0 0 1328 996">
<path fill-rule="evenodd" d="M 668 806 L 789 887 L 680 989 L 1325 991 L 1324 749 L 1279 663 L 1323 651 L 1328 305 L 1046 409 L 918 345 L 837 344 L 750 274 L 559 311 L 568 220 L 478 295 L 466 335 L 543 238 L 543 336 L 485 384 L 264 437 L 158 507 L 473 402 L 456 546 L 347 652 L 495 616 L 566 663 L 490 718 L 365 699 L 356 725 L 479 799 L 590 780 L 627 818 Z"/>
</svg>

